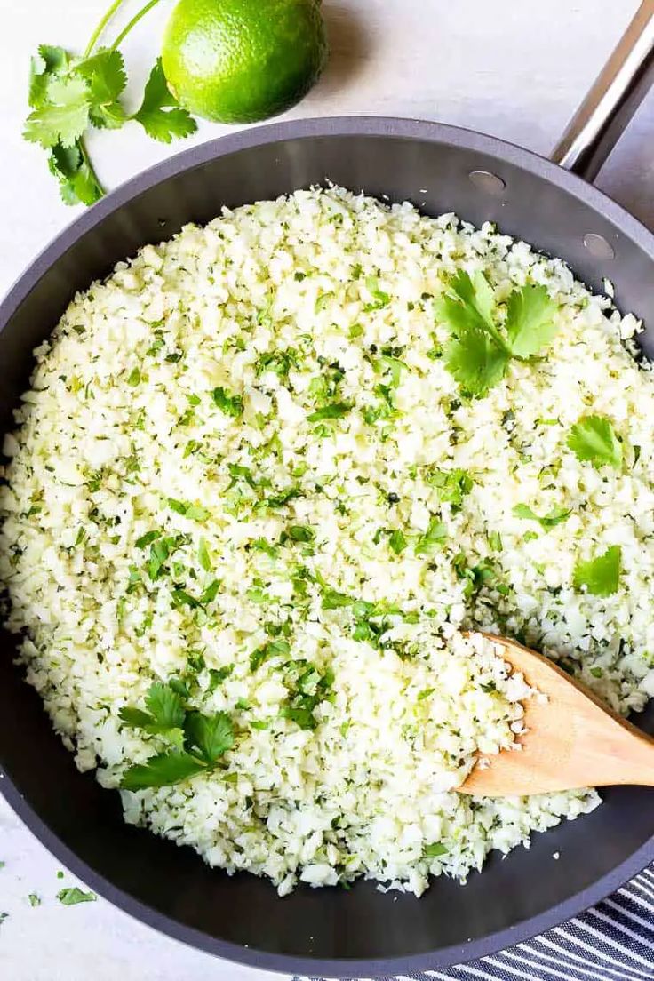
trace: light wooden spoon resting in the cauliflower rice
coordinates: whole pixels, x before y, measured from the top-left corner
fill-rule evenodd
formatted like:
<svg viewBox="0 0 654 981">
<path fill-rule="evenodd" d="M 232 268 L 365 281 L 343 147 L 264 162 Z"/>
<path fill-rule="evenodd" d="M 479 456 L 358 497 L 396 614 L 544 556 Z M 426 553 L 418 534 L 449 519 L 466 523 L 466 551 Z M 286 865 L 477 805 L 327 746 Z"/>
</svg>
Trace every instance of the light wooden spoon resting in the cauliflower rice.
<svg viewBox="0 0 654 981">
<path fill-rule="evenodd" d="M 522 749 L 485 757 L 458 788 L 484 797 L 544 794 L 579 787 L 654 787 L 654 739 L 607 708 L 560 667 L 522 644 L 484 635 L 501 656 L 547 696 L 525 701 Z"/>
</svg>

